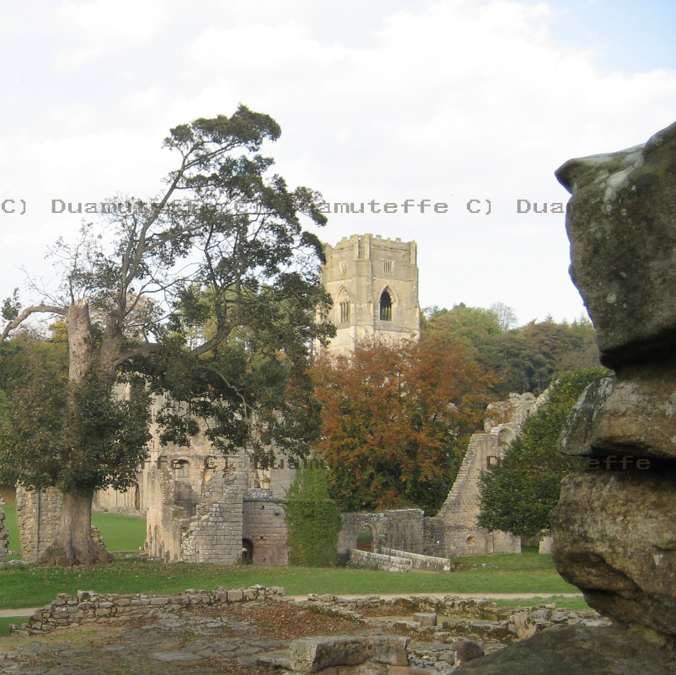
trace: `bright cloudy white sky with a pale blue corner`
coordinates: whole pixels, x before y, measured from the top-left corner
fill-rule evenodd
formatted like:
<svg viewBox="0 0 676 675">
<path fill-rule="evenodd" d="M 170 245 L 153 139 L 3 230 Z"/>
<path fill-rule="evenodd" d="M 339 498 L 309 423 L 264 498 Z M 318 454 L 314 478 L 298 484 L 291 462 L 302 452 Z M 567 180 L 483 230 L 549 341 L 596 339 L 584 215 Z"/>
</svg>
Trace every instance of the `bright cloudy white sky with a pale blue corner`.
<svg viewBox="0 0 676 675">
<path fill-rule="evenodd" d="M 331 214 L 324 241 L 418 242 L 421 307 L 575 319 L 553 172 L 676 119 L 675 35 L 672 0 L 6 3 L 0 297 L 21 265 L 48 282 L 45 247 L 77 231 L 52 199 L 151 197 L 175 161 L 169 128 L 243 103 L 282 126 L 265 153 L 290 185 L 332 210 L 365 202 Z M 385 202 L 397 212 L 371 212 Z"/>
</svg>

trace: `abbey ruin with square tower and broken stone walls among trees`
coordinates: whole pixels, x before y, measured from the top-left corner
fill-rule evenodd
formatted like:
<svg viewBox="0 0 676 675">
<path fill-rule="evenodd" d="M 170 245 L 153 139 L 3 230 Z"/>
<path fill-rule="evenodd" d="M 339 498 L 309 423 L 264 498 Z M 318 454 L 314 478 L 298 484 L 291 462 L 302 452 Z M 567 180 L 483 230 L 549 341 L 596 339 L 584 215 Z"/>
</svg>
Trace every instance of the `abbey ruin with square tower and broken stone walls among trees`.
<svg viewBox="0 0 676 675">
<path fill-rule="evenodd" d="M 321 279 L 331 294 L 337 335 L 328 349 L 350 353 L 357 341 L 396 343 L 420 336 L 417 250 L 414 241 L 372 234 L 326 246 Z M 156 401 L 159 407 L 161 401 Z M 539 402 L 531 394 L 489 405 L 458 478 L 436 517 L 418 509 L 345 514 L 339 549 L 355 549 L 360 530 L 372 535 L 374 554 L 407 551 L 448 559 L 456 555 L 521 551 L 518 537 L 477 527 L 478 478 L 502 458 Z M 284 499 L 299 463 L 279 456 L 260 467 L 243 450 L 214 451 L 204 437 L 189 446 L 160 446 L 153 434 L 138 482 L 126 492 L 97 493 L 94 508 L 147 519 L 146 553 L 167 562 L 284 565 L 288 561 Z M 57 490 L 18 489 L 23 559 L 35 562 L 52 543 L 60 512 Z"/>
</svg>

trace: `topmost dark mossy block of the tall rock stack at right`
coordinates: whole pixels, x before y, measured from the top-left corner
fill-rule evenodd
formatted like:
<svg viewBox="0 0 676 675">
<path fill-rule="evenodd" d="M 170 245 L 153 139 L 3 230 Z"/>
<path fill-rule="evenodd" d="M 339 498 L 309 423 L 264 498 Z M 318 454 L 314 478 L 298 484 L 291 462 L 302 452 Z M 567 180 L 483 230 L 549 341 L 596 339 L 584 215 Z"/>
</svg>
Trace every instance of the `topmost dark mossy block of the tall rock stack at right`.
<svg viewBox="0 0 676 675">
<path fill-rule="evenodd" d="M 599 334 L 602 363 L 676 347 L 676 124 L 644 146 L 569 160 L 571 276 Z"/>
</svg>

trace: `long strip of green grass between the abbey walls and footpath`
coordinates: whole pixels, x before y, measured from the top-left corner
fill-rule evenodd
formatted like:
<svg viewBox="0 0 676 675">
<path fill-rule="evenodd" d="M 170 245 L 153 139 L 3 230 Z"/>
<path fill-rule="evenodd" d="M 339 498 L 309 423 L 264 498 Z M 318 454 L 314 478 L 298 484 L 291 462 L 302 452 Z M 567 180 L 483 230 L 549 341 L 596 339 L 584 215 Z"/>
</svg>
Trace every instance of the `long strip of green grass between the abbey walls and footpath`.
<svg viewBox="0 0 676 675">
<path fill-rule="evenodd" d="M 548 559 L 548 567 L 545 561 Z M 519 560 L 520 559 L 520 560 Z M 160 564 L 118 560 L 110 565 L 76 568 L 32 566 L 0 569 L 0 608 L 35 607 L 57 593 L 179 593 L 186 588 L 239 588 L 262 583 L 302 593 L 575 593 L 553 569 L 551 556 L 485 556 L 477 561 L 497 568 L 455 573 L 400 574 L 353 569 L 317 569 L 196 564 Z"/>
</svg>

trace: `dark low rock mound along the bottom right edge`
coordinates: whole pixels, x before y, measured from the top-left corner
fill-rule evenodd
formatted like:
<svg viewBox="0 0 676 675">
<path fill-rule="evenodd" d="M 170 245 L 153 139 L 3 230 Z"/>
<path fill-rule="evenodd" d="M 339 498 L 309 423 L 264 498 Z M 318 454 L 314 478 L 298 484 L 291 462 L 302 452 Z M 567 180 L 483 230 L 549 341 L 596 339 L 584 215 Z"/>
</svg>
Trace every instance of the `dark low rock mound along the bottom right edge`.
<svg viewBox="0 0 676 675">
<path fill-rule="evenodd" d="M 467 675 L 674 675 L 676 653 L 615 627 L 550 628 L 460 669 Z"/>
</svg>

